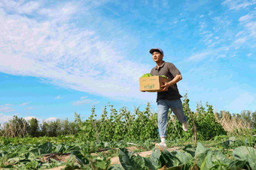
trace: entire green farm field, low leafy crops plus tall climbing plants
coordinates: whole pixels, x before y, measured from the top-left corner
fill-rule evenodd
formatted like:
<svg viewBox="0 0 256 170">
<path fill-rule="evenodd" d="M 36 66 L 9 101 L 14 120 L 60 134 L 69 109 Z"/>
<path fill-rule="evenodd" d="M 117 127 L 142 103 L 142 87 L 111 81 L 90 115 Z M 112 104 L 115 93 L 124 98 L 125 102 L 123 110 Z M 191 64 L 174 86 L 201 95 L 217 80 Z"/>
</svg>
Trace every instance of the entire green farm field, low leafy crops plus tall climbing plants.
<svg viewBox="0 0 256 170">
<path fill-rule="evenodd" d="M 245 119 L 213 112 L 199 105 L 191 112 L 185 97 L 183 109 L 189 130 L 182 130 L 172 111 L 166 139 L 167 150 L 154 148 L 157 113 L 151 106 L 130 112 L 105 106 L 100 117 L 95 109 L 87 120 L 75 114 L 74 135 L 56 135 L 60 121 L 40 124 L 14 117 L 4 124 L 0 137 L 1 169 L 255 169 L 256 136 Z M 33 123 L 34 122 L 34 123 Z M 33 124 L 32 124 L 33 123 Z M 65 122 L 64 122 L 65 123 Z M 66 121 L 66 125 L 69 122 Z M 46 126 L 47 125 L 47 126 Z M 73 126 L 74 125 L 74 126 Z M 26 130 L 26 126 L 30 129 Z M 53 128 L 58 127 L 59 128 Z M 37 124 L 39 127 L 39 124 Z M 65 129 L 65 128 L 64 128 Z M 41 130 L 41 131 L 40 131 Z M 29 133 L 30 132 L 30 133 Z M 47 132 L 47 133 L 45 133 Z M 73 132 L 73 131 L 70 131 Z M 31 137 L 37 134 L 44 136 Z"/>
</svg>

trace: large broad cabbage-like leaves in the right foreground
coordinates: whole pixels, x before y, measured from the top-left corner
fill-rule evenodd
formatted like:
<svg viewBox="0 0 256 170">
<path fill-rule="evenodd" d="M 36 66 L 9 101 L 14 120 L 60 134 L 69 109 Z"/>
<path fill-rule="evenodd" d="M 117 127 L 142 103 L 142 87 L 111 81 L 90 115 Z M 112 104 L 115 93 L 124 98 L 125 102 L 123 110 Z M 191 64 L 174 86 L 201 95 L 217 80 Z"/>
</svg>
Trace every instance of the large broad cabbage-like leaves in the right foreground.
<svg viewBox="0 0 256 170">
<path fill-rule="evenodd" d="M 255 169 L 256 150 L 250 147 L 239 147 L 233 151 L 233 159 L 221 153 L 203 147 L 198 142 L 197 148 L 187 146 L 185 152 L 154 148 L 150 158 L 140 157 L 138 154 L 120 148 L 119 159 L 123 169 Z"/>
</svg>

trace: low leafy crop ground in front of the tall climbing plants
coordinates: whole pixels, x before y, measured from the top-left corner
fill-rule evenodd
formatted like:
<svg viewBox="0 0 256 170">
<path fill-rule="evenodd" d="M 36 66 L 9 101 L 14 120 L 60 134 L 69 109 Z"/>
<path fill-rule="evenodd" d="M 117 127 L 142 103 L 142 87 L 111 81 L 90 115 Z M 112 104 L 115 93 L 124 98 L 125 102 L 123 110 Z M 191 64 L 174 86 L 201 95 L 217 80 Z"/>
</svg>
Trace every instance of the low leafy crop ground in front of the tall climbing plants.
<svg viewBox="0 0 256 170">
<path fill-rule="evenodd" d="M 148 139 L 129 142 L 78 142 L 75 136 L 1 138 L 2 169 L 255 169 L 255 137 L 217 136 L 215 140 L 168 141 L 160 152 Z M 134 153 L 149 151 L 148 156 Z M 111 163 L 118 157 L 121 164 Z M 112 159 L 113 160 L 113 159 Z M 118 161 L 116 162 L 118 163 Z"/>
</svg>

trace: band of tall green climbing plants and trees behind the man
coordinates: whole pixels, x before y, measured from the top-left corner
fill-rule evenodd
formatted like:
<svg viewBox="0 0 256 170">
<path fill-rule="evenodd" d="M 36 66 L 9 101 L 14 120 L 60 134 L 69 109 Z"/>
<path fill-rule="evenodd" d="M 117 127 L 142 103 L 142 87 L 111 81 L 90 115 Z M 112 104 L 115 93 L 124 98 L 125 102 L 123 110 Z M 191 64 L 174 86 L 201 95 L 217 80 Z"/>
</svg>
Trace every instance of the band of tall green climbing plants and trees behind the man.
<svg viewBox="0 0 256 170">
<path fill-rule="evenodd" d="M 243 129 L 249 129 L 252 133 L 256 133 L 256 111 L 245 110 L 240 114 L 230 114 L 227 111 L 214 112 L 208 103 L 206 106 L 197 103 L 197 110 L 192 112 L 187 94 L 184 96 L 183 108 L 189 119 L 190 130 L 184 132 L 175 116 L 171 116 L 172 111 L 170 110 L 167 131 L 172 139 L 194 139 L 197 137 L 200 140 L 209 140 L 220 135 L 239 135 Z M 10 121 L 0 125 L 0 136 L 55 137 L 78 134 L 84 139 L 97 141 L 146 140 L 149 138 L 156 139 L 158 136 L 157 113 L 151 109 L 149 103 L 144 111 L 135 108 L 133 112 L 127 110 L 126 107 L 117 111 L 109 105 L 105 106 L 103 112 L 98 115 L 100 116 L 96 115 L 94 107 L 90 117 L 85 121 L 82 121 L 80 115 L 76 113 L 75 121 L 56 119 L 42 123 L 36 118 L 26 121 L 24 118 L 18 118 L 17 115 L 14 115 Z M 234 122 L 240 123 L 234 127 Z M 195 132 L 197 133 L 196 136 Z"/>
</svg>

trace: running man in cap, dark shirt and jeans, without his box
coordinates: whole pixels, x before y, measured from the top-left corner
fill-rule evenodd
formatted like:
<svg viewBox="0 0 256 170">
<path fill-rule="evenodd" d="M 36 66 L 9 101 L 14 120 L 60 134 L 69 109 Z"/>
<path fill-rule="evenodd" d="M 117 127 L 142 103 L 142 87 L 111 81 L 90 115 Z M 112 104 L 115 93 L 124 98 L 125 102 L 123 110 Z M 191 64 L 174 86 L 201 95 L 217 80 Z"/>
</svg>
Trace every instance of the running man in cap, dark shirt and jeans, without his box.
<svg viewBox="0 0 256 170">
<path fill-rule="evenodd" d="M 157 66 L 151 70 L 153 76 L 164 75 L 167 76 L 169 82 L 165 82 L 161 87 L 168 91 L 157 92 L 157 121 L 161 142 L 156 144 L 157 148 L 161 150 L 166 149 L 166 127 L 167 115 L 169 108 L 182 123 L 184 131 L 188 130 L 187 117 L 184 115 L 181 94 L 178 92 L 177 82 L 182 79 L 181 72 L 174 64 L 163 61 L 163 50 L 160 48 L 151 49 L 149 51 Z"/>
</svg>

